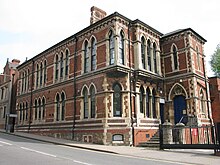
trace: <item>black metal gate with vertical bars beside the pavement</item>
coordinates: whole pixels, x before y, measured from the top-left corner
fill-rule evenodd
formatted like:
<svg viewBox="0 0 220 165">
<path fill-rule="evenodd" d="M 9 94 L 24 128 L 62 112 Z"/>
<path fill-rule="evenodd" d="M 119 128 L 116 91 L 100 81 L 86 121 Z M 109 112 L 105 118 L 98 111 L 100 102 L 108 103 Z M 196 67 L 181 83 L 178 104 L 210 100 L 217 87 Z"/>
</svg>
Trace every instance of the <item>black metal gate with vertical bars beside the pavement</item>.
<svg viewBox="0 0 220 165">
<path fill-rule="evenodd" d="M 213 149 L 215 153 L 220 152 L 220 132 L 216 125 L 177 125 L 160 125 L 160 149 Z"/>
</svg>

